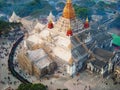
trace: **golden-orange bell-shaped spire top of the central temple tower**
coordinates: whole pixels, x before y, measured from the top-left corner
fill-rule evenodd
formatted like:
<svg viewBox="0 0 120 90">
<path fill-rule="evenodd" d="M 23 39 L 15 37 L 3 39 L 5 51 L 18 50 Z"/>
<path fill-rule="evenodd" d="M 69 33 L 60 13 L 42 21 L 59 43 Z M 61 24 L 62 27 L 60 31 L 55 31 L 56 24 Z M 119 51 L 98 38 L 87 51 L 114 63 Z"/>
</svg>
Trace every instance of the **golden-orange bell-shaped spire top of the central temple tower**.
<svg viewBox="0 0 120 90">
<path fill-rule="evenodd" d="M 63 10 L 63 17 L 67 18 L 67 19 L 75 18 L 75 11 L 74 11 L 74 8 L 72 6 L 71 0 L 67 0 L 67 3 L 66 3 L 64 10 Z"/>
</svg>

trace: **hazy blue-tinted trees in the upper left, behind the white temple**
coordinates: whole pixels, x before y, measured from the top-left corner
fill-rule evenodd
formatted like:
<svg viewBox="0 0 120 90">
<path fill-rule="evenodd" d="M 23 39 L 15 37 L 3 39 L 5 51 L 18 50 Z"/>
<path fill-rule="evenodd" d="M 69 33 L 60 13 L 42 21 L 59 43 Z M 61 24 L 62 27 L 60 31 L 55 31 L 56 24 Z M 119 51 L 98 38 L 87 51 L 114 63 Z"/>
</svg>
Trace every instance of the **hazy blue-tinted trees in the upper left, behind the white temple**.
<svg viewBox="0 0 120 90">
<path fill-rule="evenodd" d="M 50 11 L 52 6 L 47 0 L 0 0 L 0 11 L 7 15 L 11 15 L 15 11 L 19 16 L 25 17 L 33 15 L 39 9 L 43 9 L 42 13 L 44 13 Z"/>
</svg>

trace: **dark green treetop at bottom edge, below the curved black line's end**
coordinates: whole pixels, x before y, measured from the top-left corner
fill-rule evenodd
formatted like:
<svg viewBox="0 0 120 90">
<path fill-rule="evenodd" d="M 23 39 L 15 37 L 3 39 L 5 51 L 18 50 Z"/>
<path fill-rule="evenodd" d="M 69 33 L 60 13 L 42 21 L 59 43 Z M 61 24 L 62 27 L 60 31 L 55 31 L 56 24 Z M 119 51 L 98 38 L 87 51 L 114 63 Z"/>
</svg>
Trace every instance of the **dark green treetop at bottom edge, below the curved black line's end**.
<svg viewBox="0 0 120 90">
<path fill-rule="evenodd" d="M 47 90 L 43 84 L 20 84 L 17 90 Z"/>
</svg>

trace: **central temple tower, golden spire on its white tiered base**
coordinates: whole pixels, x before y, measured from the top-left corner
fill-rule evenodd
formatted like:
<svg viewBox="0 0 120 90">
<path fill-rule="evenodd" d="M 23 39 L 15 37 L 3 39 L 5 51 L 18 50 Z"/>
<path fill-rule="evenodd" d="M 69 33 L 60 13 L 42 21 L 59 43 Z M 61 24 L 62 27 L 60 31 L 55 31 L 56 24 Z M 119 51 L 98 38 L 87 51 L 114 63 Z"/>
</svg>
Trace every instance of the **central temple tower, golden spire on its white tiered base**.
<svg viewBox="0 0 120 90">
<path fill-rule="evenodd" d="M 68 36 L 66 33 L 68 32 L 69 26 L 71 26 L 72 30 L 70 36 L 82 31 L 84 27 L 81 20 L 76 18 L 72 0 L 66 0 L 63 14 L 55 24 L 55 31 L 58 31 L 61 35 Z"/>
</svg>

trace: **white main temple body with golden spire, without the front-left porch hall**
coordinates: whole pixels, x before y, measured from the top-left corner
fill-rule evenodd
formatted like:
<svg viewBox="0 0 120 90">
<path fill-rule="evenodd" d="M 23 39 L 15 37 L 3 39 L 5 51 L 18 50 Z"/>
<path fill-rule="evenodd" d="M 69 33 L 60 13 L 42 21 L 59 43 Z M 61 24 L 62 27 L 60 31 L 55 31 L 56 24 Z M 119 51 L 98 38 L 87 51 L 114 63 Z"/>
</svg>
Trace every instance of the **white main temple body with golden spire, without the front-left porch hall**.
<svg viewBox="0 0 120 90">
<path fill-rule="evenodd" d="M 67 0 L 63 15 L 57 22 L 53 23 L 51 18 L 54 20 L 50 12 L 47 25 L 36 24 L 25 38 L 24 46 L 31 51 L 42 48 L 58 66 L 73 76 L 83 67 L 89 55 L 85 45 L 92 41 L 90 33 L 87 33 L 89 23 L 87 21 L 87 27 L 84 27 L 83 22 L 76 18 L 71 0 Z"/>
</svg>

